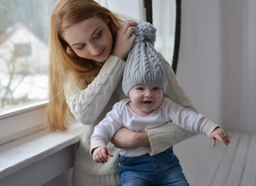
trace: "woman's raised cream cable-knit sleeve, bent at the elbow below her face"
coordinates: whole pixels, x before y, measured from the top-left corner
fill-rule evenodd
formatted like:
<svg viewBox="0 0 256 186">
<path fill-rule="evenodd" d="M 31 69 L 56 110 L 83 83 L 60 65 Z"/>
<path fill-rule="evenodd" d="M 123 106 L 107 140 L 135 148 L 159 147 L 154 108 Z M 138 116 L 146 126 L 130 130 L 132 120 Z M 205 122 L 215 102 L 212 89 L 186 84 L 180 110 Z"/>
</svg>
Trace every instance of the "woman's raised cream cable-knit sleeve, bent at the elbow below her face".
<svg viewBox="0 0 256 186">
<path fill-rule="evenodd" d="M 79 122 L 91 125 L 96 121 L 121 80 L 124 68 L 125 61 L 111 55 L 87 88 L 82 90 L 70 81 L 65 84 L 67 105 Z"/>
</svg>

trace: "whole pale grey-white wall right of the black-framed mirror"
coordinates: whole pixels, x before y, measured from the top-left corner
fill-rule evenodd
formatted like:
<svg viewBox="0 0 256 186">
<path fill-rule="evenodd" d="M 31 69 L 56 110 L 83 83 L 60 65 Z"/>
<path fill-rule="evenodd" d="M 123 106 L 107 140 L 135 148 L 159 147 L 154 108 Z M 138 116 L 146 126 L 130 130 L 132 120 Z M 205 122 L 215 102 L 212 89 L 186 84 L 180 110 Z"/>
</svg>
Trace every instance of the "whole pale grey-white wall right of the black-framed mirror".
<svg viewBox="0 0 256 186">
<path fill-rule="evenodd" d="M 199 112 L 256 133 L 256 0 L 183 0 L 177 78 Z"/>
</svg>

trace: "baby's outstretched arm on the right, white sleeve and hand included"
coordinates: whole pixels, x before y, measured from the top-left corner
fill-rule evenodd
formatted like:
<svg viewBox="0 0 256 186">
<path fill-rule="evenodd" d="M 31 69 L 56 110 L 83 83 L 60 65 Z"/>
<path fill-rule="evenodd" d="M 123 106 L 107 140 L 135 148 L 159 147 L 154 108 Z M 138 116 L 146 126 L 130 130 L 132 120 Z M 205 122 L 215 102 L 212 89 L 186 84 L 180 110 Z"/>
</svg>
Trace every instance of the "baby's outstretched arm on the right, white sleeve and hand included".
<svg viewBox="0 0 256 186">
<path fill-rule="evenodd" d="M 215 145 L 216 139 L 224 142 L 226 145 L 230 143 L 227 132 L 221 129 L 219 125 L 216 125 L 202 114 L 187 110 L 170 99 L 164 99 L 164 107 L 167 108 L 169 119 L 175 125 L 187 131 L 204 134 L 212 140 L 212 146 Z"/>
</svg>

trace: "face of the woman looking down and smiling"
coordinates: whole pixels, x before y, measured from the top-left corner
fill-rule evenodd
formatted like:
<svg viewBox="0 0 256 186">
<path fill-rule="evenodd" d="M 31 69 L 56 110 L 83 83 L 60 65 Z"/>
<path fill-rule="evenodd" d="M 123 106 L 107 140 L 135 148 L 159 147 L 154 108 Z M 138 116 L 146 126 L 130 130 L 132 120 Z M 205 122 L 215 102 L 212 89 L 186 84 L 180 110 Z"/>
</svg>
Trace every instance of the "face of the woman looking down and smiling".
<svg viewBox="0 0 256 186">
<path fill-rule="evenodd" d="M 81 58 L 104 62 L 111 53 L 112 34 L 105 21 L 98 16 L 69 26 L 61 36 Z"/>
</svg>

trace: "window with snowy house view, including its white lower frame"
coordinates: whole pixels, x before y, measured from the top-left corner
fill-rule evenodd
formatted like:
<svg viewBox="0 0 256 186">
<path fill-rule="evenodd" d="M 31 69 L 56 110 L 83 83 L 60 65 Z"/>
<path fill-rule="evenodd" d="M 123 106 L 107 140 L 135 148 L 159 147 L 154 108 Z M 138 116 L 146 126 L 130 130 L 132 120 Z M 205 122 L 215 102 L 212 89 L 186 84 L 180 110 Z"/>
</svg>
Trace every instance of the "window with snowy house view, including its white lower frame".
<svg viewBox="0 0 256 186">
<path fill-rule="evenodd" d="M 0 0 L 0 145 L 47 127 L 48 39 L 57 0 Z"/>
</svg>

